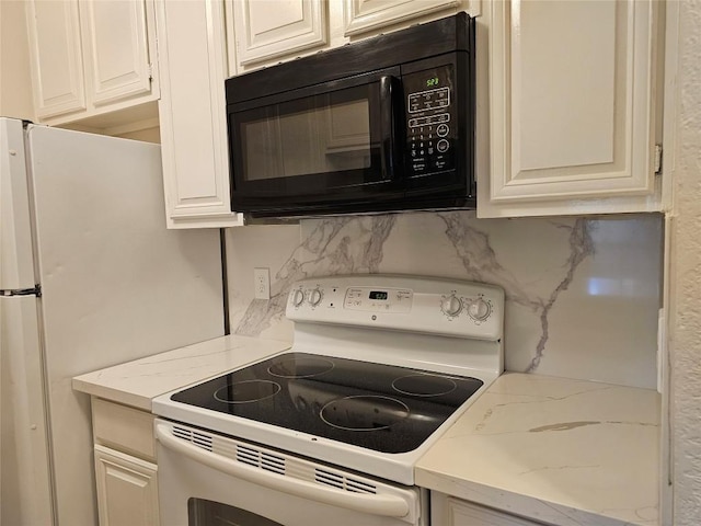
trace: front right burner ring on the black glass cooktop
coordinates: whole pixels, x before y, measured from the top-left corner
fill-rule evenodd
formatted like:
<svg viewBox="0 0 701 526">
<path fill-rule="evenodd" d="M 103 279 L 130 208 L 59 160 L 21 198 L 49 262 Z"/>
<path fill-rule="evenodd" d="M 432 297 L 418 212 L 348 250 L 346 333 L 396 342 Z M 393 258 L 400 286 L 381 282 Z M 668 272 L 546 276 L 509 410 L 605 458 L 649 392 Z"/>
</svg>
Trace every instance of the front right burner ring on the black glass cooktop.
<svg viewBox="0 0 701 526">
<path fill-rule="evenodd" d="M 321 420 L 346 431 L 387 430 L 409 416 L 409 407 L 389 397 L 360 395 L 333 400 L 321 408 Z"/>
</svg>

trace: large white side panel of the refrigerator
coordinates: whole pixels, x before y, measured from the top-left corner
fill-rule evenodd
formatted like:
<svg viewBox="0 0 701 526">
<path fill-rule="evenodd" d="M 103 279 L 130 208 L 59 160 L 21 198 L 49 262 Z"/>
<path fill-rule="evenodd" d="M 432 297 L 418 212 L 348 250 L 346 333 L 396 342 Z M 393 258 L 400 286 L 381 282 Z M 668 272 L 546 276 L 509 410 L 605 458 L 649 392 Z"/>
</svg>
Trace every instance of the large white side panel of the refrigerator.
<svg viewBox="0 0 701 526">
<path fill-rule="evenodd" d="M 72 377 L 222 335 L 219 231 L 166 230 L 158 145 L 27 137 L 57 517 L 91 525 L 90 400 Z"/>
</svg>

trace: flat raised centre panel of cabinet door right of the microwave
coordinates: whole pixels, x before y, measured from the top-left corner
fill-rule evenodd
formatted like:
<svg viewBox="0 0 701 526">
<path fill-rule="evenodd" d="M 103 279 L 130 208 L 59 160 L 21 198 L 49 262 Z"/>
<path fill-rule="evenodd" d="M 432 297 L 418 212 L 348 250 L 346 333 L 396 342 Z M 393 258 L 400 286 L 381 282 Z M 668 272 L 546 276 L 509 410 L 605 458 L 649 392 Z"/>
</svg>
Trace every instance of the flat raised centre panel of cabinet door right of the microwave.
<svg viewBox="0 0 701 526">
<path fill-rule="evenodd" d="M 527 23 L 512 42 L 514 164 L 525 174 L 612 163 L 624 113 L 614 114 L 616 2 L 526 1 L 519 15 Z M 597 27 L 596 38 L 573 31 L 574 21 Z"/>
</svg>

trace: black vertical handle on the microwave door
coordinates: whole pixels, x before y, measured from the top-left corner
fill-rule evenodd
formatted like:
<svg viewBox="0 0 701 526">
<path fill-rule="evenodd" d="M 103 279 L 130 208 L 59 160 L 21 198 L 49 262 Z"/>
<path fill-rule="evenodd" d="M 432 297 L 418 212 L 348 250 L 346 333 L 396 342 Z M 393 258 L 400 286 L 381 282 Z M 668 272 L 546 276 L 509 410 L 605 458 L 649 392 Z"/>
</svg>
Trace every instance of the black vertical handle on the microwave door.
<svg viewBox="0 0 701 526">
<path fill-rule="evenodd" d="M 400 172 L 399 156 L 399 112 L 398 101 L 401 99 L 399 79 L 391 75 L 380 79 L 381 147 L 382 180 L 397 178 Z"/>
</svg>

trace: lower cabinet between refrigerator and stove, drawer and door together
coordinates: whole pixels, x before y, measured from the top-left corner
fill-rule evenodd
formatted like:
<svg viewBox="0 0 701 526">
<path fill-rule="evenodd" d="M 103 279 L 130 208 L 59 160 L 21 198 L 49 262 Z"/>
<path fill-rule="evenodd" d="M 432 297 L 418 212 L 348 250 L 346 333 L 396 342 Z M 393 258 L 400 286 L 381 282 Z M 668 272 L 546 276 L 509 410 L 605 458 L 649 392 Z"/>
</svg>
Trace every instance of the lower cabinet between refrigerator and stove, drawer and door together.
<svg viewBox="0 0 701 526">
<path fill-rule="evenodd" d="M 100 526 L 159 526 L 153 415 L 92 399 Z"/>
</svg>

